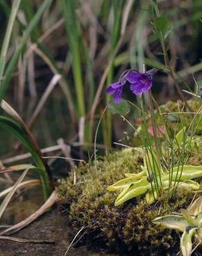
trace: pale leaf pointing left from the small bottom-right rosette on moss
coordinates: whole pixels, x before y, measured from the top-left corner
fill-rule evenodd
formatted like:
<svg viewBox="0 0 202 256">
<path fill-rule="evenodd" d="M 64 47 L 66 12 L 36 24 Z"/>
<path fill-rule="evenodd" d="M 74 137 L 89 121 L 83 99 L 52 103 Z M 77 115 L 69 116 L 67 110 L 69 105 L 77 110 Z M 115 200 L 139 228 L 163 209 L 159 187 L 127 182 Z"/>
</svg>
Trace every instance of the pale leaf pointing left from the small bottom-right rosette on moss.
<svg viewBox="0 0 202 256">
<path fill-rule="evenodd" d="M 178 215 L 165 215 L 163 217 L 157 217 L 152 222 L 181 232 L 183 232 L 185 228 L 189 226 L 187 220 L 183 216 Z"/>
</svg>

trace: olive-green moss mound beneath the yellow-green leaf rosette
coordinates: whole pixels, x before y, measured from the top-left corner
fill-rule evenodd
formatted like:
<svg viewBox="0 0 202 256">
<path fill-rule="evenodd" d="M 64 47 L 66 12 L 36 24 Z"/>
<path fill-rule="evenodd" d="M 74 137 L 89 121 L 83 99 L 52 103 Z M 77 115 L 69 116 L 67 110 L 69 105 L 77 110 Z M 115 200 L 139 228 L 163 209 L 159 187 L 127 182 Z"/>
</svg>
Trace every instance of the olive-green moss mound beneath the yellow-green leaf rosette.
<svg viewBox="0 0 202 256">
<path fill-rule="evenodd" d="M 173 104 L 171 105 L 173 107 Z M 196 136 L 192 140 L 196 140 L 199 154 L 190 151 L 186 164 L 200 165 L 201 137 Z M 71 217 L 73 237 L 84 227 L 80 243 L 119 255 L 178 253 L 178 234 L 154 225 L 152 220 L 187 208 L 192 201 L 193 192 L 178 190 L 169 201 L 165 192 L 154 205 L 147 205 L 143 198 L 137 198 L 115 207 L 117 194 L 107 191 L 109 185 L 125 177 L 124 173 L 140 172 L 140 165 L 143 165 L 143 153 L 135 149 L 124 149 L 105 157 L 102 161 L 75 168 L 68 178 L 62 181 L 57 193 Z"/>
</svg>

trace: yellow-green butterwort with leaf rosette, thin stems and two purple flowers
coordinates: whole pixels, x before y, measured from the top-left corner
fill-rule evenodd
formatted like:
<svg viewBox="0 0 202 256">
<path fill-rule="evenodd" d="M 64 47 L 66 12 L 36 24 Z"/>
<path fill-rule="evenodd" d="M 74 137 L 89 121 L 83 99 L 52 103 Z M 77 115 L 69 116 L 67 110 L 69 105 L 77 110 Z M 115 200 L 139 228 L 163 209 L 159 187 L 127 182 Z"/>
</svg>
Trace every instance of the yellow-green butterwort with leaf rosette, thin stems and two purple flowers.
<svg viewBox="0 0 202 256">
<path fill-rule="evenodd" d="M 145 200 L 148 204 L 154 203 L 163 194 L 163 191 L 167 190 L 167 195 L 172 196 L 176 192 L 177 188 L 186 188 L 190 190 L 200 190 L 201 185 L 192 179 L 202 176 L 202 166 L 185 165 L 181 161 L 177 162 L 177 165 L 172 163 L 163 164 L 165 160 L 165 151 L 160 148 L 160 140 L 157 136 L 156 122 L 154 115 L 154 106 L 151 88 L 153 85 L 154 75 L 156 75 L 157 69 L 152 68 L 151 70 L 140 73 L 134 68 L 129 69 L 120 75 L 118 82 L 110 84 L 107 93 L 113 95 L 113 99 L 116 104 L 121 102 L 122 91 L 125 86 L 129 86 L 131 93 L 138 95 L 141 104 L 141 114 L 143 116 L 143 125 L 141 125 L 142 132 L 140 135 L 143 136 L 143 146 L 145 147 L 144 166 L 142 172 L 138 174 L 125 174 L 126 178 L 110 185 L 107 190 L 109 191 L 120 191 L 115 205 L 121 205 L 137 196 L 145 195 Z M 143 106 L 143 97 L 140 97 L 143 93 L 149 92 L 149 106 L 151 113 L 152 122 L 152 134 L 149 136 L 147 120 L 145 120 L 145 111 Z M 158 115 L 160 112 L 157 111 Z M 185 147 L 185 127 L 176 134 L 174 142 L 177 141 L 178 146 L 182 145 L 183 150 Z M 154 138 L 154 143 L 153 143 Z M 167 134 L 165 131 L 165 139 Z M 188 139 L 188 138 L 187 138 Z M 189 138 L 191 140 L 191 138 Z M 174 149 L 173 149 L 174 150 Z M 183 160 L 182 160 L 183 161 Z M 171 193 L 172 192 L 172 193 Z"/>
</svg>

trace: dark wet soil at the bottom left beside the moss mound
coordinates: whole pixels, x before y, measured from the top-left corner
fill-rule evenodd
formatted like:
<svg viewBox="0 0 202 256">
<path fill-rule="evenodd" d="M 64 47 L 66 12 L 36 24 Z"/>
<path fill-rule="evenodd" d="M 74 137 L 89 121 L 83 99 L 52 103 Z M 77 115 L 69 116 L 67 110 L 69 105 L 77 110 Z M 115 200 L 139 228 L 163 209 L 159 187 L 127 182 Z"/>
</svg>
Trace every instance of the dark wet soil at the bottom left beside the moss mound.
<svg viewBox="0 0 202 256">
<path fill-rule="evenodd" d="M 23 239 L 53 240 L 55 244 L 25 244 L 0 239 L 0 256 L 63 256 L 71 241 L 68 239 L 68 218 L 60 210 L 51 210 L 31 223 L 28 227 L 13 234 Z M 11 235 L 10 235 L 11 236 Z M 116 256 L 88 250 L 84 246 L 71 248 L 71 256 Z"/>
</svg>

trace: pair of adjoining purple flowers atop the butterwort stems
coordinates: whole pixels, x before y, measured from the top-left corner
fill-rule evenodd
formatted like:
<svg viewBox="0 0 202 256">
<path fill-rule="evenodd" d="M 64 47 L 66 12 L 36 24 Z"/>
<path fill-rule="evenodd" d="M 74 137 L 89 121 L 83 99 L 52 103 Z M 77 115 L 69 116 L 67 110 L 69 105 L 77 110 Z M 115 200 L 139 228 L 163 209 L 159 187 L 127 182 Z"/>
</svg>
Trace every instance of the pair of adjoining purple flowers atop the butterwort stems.
<svg viewBox="0 0 202 256">
<path fill-rule="evenodd" d="M 145 93 L 152 87 L 152 80 L 156 72 L 156 68 L 152 68 L 145 73 L 134 71 L 134 68 L 126 70 L 122 73 L 118 82 L 109 85 L 107 93 L 113 95 L 113 100 L 117 104 L 120 103 L 122 89 L 127 82 L 129 82 L 130 89 L 134 94 Z"/>
</svg>

